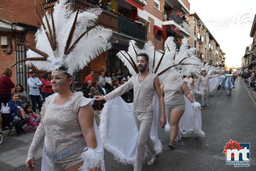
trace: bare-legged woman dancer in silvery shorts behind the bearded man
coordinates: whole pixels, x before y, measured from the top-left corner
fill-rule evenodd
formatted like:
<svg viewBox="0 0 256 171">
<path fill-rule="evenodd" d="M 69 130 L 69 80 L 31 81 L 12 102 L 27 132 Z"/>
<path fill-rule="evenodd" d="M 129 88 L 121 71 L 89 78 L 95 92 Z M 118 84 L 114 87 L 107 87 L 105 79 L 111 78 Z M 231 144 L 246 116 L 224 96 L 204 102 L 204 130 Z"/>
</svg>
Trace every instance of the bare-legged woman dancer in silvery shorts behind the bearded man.
<svg viewBox="0 0 256 171">
<path fill-rule="evenodd" d="M 175 46 L 172 47 L 169 39 L 166 41 L 166 46 L 168 46 L 169 49 L 176 48 Z M 190 75 L 191 72 L 193 70 L 195 71 L 195 68 L 201 64 L 200 59 L 193 55 L 194 50 L 194 48 L 188 48 L 188 41 L 186 38 L 184 38 L 179 51 L 176 52 L 176 54 L 173 54 L 173 56 L 167 55 L 168 58 L 173 59 L 173 64 L 180 64 L 180 61 L 183 61 L 182 65 L 177 65 L 175 69 L 172 69 L 168 73 L 168 77 L 165 78 L 161 84 L 161 90 L 164 93 L 165 110 L 167 115 L 166 118 L 168 121 L 166 122 L 165 129 L 166 132 L 171 129 L 169 142 L 170 148 L 174 148 L 175 139 L 176 141 L 179 141 L 181 136 L 183 136 L 183 129 L 179 131 L 180 129 L 178 125 L 180 118 L 183 116 L 185 111 L 184 97 L 188 99 L 190 104 L 190 106 L 189 104 L 188 106 L 192 108 L 190 112 L 197 113 L 199 111 L 201 114 L 201 111 L 199 110 L 201 109 L 201 104 L 195 101 L 188 85 L 182 79 L 183 75 Z M 188 81 L 187 78 L 184 79 Z M 193 91 L 193 79 L 189 77 L 189 81 L 191 82 L 190 88 Z M 190 119 L 188 122 L 191 122 Z M 180 133 L 178 134 L 178 132 Z"/>
</svg>

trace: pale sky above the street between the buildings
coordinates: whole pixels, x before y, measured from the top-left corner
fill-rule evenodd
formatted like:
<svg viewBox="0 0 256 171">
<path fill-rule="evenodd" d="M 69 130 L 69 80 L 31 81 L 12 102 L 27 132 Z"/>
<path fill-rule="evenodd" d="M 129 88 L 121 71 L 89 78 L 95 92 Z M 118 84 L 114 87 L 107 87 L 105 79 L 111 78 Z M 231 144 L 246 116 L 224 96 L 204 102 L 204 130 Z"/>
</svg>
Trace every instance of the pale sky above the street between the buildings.
<svg viewBox="0 0 256 171">
<path fill-rule="evenodd" d="M 241 67 L 245 48 L 253 42 L 250 30 L 256 14 L 256 0 L 188 1 L 190 10 L 198 14 L 226 53 L 226 66 Z"/>
</svg>

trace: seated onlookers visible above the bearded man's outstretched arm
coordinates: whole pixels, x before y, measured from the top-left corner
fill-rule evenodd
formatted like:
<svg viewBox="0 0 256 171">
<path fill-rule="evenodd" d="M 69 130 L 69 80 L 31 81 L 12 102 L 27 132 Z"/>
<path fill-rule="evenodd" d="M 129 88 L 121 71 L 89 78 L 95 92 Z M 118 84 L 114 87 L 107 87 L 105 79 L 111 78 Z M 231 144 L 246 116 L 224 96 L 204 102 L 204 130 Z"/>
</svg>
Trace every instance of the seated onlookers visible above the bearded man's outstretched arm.
<svg viewBox="0 0 256 171">
<path fill-rule="evenodd" d="M 116 73 L 112 72 L 110 74 L 109 71 L 101 72 L 98 80 L 94 80 L 94 72 L 91 70 L 89 75 L 84 78 L 84 84 L 81 88 L 81 91 L 84 94 L 84 97 L 93 98 L 94 96 L 104 96 L 111 91 L 115 90 L 117 87 L 122 86 L 126 81 L 131 78 L 131 75 L 125 75 L 124 72 L 121 73 L 120 70 L 116 70 Z M 133 93 L 126 92 L 121 96 L 122 99 L 126 102 L 133 101 Z M 95 103 L 97 109 L 101 109 L 104 101 L 96 101 Z"/>
</svg>

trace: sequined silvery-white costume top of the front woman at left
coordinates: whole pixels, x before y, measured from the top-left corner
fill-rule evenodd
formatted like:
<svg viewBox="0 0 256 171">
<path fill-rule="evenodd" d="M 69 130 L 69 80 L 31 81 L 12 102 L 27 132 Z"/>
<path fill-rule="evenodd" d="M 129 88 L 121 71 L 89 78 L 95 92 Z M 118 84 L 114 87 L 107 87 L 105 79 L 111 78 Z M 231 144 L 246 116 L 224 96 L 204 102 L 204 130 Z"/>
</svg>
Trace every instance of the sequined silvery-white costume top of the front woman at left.
<svg viewBox="0 0 256 171">
<path fill-rule="evenodd" d="M 35 155 L 40 141 L 44 142 L 44 152 L 52 162 L 68 162 L 77 159 L 86 147 L 78 120 L 79 107 L 93 103 L 92 99 L 76 92 L 65 104 L 55 104 L 58 93 L 49 96 L 45 103 L 43 125 L 38 126 L 27 161 Z M 37 128 L 37 129 L 38 129 Z M 39 136 L 39 133 L 41 134 Z M 44 137 L 44 140 L 43 140 Z"/>
</svg>

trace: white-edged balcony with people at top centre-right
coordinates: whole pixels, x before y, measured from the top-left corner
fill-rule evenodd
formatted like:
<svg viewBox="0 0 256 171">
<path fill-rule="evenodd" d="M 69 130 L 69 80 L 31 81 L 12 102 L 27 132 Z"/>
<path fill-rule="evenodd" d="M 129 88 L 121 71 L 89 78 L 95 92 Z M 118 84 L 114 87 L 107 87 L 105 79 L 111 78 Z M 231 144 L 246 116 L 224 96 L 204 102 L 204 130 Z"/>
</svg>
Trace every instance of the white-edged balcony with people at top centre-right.
<svg viewBox="0 0 256 171">
<path fill-rule="evenodd" d="M 175 29 L 180 30 L 184 35 L 190 36 L 190 25 L 186 23 L 174 10 L 164 11 L 163 25 L 171 25 Z"/>
</svg>

